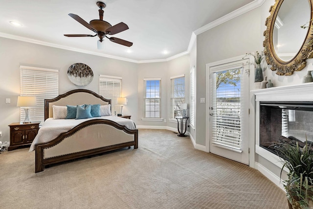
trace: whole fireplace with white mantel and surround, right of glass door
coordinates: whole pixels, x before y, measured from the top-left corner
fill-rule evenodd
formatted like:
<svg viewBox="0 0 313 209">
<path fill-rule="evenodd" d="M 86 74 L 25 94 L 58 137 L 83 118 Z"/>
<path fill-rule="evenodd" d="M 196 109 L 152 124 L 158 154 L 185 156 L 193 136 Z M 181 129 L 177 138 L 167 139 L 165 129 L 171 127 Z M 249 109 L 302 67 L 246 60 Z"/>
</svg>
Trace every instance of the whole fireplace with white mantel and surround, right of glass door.
<svg viewBox="0 0 313 209">
<path fill-rule="evenodd" d="M 268 146 L 281 137 L 313 140 L 313 82 L 254 90 L 255 152 L 282 167 Z"/>
</svg>

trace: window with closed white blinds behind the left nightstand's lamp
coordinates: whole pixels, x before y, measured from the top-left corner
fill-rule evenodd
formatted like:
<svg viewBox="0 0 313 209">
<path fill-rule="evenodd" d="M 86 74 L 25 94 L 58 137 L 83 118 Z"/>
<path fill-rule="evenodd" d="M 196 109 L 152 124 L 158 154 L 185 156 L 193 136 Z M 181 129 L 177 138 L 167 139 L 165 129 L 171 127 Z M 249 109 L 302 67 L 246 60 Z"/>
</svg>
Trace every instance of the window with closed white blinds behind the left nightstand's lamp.
<svg viewBox="0 0 313 209">
<path fill-rule="evenodd" d="M 21 96 L 36 96 L 36 107 L 30 107 L 31 121 L 45 120 L 45 99 L 59 95 L 59 70 L 20 66 Z M 20 108 L 20 121 L 25 117 L 25 111 Z"/>
</svg>

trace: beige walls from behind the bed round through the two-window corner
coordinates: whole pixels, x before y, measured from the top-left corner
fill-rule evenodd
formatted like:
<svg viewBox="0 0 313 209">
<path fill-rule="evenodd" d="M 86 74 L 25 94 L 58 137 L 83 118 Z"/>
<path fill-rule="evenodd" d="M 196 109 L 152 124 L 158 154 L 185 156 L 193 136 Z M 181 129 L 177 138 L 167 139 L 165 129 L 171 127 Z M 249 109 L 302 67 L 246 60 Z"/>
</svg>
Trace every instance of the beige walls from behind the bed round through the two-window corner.
<svg viewBox="0 0 313 209">
<path fill-rule="evenodd" d="M 59 70 L 59 93 L 73 89 L 88 89 L 99 93 L 99 75 L 122 77 L 122 96 L 127 97 L 123 113 L 131 115 L 137 125 L 171 126 L 176 123 L 142 121 L 143 78 L 162 78 L 162 117 L 169 118 L 170 76 L 186 74 L 186 96 L 189 98 L 189 55 L 168 62 L 137 64 L 106 57 L 84 54 L 49 46 L 41 46 L 12 39 L 0 38 L 0 141 L 9 141 L 9 127 L 20 121 L 19 107 L 16 107 L 20 94 L 20 66 L 31 66 Z M 67 69 L 73 63 L 85 63 L 93 71 L 92 82 L 84 87 L 74 85 L 67 78 Z M 6 104 L 5 98 L 11 103 Z M 189 100 L 189 99 L 188 99 Z"/>
</svg>

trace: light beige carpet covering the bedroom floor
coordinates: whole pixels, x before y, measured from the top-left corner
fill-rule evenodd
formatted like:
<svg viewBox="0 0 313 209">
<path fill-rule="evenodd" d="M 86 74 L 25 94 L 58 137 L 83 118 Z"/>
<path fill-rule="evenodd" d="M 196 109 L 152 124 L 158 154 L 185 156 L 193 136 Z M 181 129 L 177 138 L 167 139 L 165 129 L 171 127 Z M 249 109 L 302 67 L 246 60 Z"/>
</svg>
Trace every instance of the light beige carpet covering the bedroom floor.
<svg viewBox="0 0 313 209">
<path fill-rule="evenodd" d="M 140 129 L 136 150 L 34 170 L 28 148 L 0 154 L 0 208 L 288 209 L 284 191 L 259 171 L 166 130 Z"/>
</svg>

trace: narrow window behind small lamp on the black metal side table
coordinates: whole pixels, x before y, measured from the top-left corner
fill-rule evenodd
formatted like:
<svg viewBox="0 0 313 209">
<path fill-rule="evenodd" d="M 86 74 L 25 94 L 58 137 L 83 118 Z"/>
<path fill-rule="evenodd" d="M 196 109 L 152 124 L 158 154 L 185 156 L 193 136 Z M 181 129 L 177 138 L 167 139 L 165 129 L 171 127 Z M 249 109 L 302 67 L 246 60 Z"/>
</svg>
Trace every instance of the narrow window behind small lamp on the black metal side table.
<svg viewBox="0 0 313 209">
<path fill-rule="evenodd" d="M 180 104 L 185 103 L 185 75 L 171 77 L 171 117 L 180 116 Z"/>
</svg>

